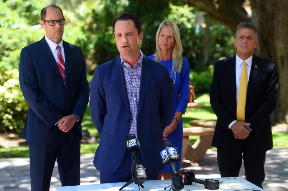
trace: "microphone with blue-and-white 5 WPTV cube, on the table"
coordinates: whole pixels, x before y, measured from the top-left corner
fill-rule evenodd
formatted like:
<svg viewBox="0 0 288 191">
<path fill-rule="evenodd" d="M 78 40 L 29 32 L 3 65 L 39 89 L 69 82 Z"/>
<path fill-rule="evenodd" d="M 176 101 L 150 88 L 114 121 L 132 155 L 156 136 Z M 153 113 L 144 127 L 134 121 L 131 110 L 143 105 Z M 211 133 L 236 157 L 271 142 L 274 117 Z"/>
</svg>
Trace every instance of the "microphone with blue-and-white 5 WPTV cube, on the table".
<svg viewBox="0 0 288 191">
<path fill-rule="evenodd" d="M 166 141 L 164 143 L 164 147 L 165 147 L 165 149 L 160 152 L 160 155 L 162 157 L 162 163 L 163 164 L 170 164 L 170 169 L 172 172 L 172 179 L 171 179 L 172 190 L 173 191 L 182 190 L 184 188 L 184 185 L 183 185 L 182 178 L 179 175 L 179 172 L 178 172 L 177 166 L 176 166 L 176 162 L 180 160 L 178 148 L 172 147 L 172 144 L 170 141 Z M 166 190 L 166 188 L 164 188 L 164 190 Z"/>
</svg>

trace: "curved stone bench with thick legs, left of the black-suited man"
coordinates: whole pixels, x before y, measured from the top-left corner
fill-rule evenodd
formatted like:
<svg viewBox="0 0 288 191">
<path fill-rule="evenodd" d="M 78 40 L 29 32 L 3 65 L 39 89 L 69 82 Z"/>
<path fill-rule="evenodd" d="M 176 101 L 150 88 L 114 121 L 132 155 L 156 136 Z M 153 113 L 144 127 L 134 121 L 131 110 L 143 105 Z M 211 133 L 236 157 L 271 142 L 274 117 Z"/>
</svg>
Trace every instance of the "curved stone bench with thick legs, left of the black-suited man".
<svg viewBox="0 0 288 191">
<path fill-rule="evenodd" d="M 200 127 L 183 128 L 182 159 L 186 157 L 188 160 L 193 162 L 201 161 L 204 158 L 207 149 L 211 146 L 215 129 L 215 125 L 213 124 L 216 124 L 216 122 L 206 121 L 206 125 L 204 120 L 199 120 L 199 122 L 201 122 L 202 125 Z M 192 146 L 188 144 L 189 135 L 200 135 Z"/>
</svg>

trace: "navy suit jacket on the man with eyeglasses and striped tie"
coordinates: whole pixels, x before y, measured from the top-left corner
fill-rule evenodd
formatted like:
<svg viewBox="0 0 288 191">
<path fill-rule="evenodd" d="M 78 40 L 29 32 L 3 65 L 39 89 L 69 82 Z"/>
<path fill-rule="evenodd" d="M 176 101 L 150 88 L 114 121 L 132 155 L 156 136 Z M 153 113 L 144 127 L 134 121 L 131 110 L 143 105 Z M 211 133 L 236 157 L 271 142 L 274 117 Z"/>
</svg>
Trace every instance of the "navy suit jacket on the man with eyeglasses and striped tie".
<svg viewBox="0 0 288 191">
<path fill-rule="evenodd" d="M 79 47 L 65 41 L 63 46 L 65 84 L 45 38 L 21 51 L 19 81 L 29 104 L 22 138 L 28 143 L 61 143 L 65 133 L 54 124 L 62 116 L 70 114 L 77 115 L 80 121 L 68 135 L 72 140 L 82 139 L 81 121 L 89 100 L 85 62 Z"/>
</svg>

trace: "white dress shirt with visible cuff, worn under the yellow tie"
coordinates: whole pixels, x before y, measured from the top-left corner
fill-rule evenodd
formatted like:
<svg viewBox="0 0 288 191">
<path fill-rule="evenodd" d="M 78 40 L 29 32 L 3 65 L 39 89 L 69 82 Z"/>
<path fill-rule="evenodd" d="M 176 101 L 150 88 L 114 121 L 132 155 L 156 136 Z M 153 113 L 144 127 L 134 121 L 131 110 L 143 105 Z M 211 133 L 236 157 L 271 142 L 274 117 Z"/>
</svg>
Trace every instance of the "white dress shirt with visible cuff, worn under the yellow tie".
<svg viewBox="0 0 288 191">
<path fill-rule="evenodd" d="M 240 87 L 240 80 L 241 80 L 241 73 L 242 73 L 242 68 L 243 68 L 243 61 L 247 63 L 246 70 L 247 70 L 247 76 L 248 80 L 247 83 L 249 82 L 249 76 L 250 76 L 250 71 L 251 71 L 251 66 L 252 66 L 252 57 L 251 55 L 248 59 L 242 60 L 237 54 L 236 54 L 236 67 L 235 67 L 235 72 L 236 72 L 236 103 L 238 103 L 238 94 L 239 94 L 239 87 Z M 237 120 L 232 121 L 228 128 L 231 129 L 232 125 L 236 122 Z"/>
</svg>

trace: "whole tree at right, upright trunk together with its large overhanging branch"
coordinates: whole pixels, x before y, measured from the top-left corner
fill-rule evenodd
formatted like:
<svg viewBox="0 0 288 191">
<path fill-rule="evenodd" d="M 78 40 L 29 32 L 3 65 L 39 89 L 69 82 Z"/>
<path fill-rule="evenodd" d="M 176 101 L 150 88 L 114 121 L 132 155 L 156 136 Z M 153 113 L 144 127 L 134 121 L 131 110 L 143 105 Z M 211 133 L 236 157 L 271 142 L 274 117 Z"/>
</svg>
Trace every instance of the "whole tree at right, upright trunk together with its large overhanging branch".
<svg viewBox="0 0 288 191">
<path fill-rule="evenodd" d="M 205 11 L 212 19 L 235 33 L 238 23 L 251 22 L 243 3 L 248 0 L 182 0 Z M 259 44 L 255 53 L 277 63 L 278 106 L 272 115 L 274 122 L 288 123 L 288 3 L 287 0 L 250 0 L 252 22 L 258 29 Z"/>
</svg>

